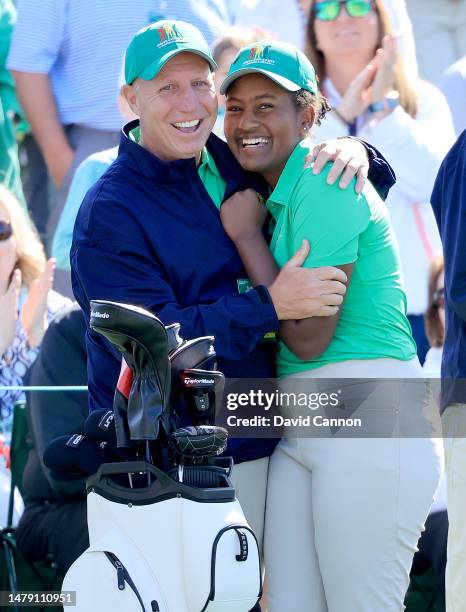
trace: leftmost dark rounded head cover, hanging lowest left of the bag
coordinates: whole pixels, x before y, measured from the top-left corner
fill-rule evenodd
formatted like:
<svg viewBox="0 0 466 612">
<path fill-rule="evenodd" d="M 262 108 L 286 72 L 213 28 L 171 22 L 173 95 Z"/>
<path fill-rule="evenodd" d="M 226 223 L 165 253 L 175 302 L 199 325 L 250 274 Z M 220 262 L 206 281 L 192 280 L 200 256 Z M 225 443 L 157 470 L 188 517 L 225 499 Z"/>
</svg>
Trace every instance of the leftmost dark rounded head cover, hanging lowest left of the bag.
<svg viewBox="0 0 466 612">
<path fill-rule="evenodd" d="M 82 434 L 55 438 L 44 451 L 45 465 L 60 480 L 90 476 L 102 463 L 119 460 L 106 442 Z"/>
</svg>

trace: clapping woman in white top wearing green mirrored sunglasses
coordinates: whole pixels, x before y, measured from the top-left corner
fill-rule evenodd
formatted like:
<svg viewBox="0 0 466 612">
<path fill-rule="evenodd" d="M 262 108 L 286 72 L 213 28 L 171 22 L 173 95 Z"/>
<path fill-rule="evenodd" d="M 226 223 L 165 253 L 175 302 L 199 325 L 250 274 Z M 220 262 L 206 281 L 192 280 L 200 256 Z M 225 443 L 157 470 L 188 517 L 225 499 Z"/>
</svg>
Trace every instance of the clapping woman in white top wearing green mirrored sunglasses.
<svg viewBox="0 0 466 612">
<path fill-rule="evenodd" d="M 357 135 L 395 171 L 387 205 L 422 363 L 429 262 L 441 248 L 429 200 L 455 138 L 448 105 L 433 85 L 407 78 L 383 0 L 312 0 L 306 53 L 333 109 L 314 130 L 316 141 Z"/>
</svg>

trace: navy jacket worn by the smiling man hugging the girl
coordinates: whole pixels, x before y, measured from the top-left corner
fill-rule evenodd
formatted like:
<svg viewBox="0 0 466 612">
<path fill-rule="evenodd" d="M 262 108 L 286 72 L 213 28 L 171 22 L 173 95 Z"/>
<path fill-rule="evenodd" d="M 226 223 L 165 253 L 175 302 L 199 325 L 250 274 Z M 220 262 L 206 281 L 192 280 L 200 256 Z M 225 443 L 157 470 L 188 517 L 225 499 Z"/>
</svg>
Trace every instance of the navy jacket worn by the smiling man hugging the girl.
<svg viewBox="0 0 466 612">
<path fill-rule="evenodd" d="M 72 284 L 86 321 L 92 299 L 136 304 L 164 324 L 179 322 L 185 339 L 215 336 L 227 378 L 272 378 L 273 344 L 261 340 L 279 323 L 268 292 L 238 294 L 237 279 L 247 275 L 194 159 L 161 161 L 128 138 L 135 125 L 123 128 L 117 159 L 89 190 L 76 220 Z M 226 180 L 225 198 L 257 180 L 216 136 L 207 147 Z M 371 180 L 388 192 L 391 168 L 375 150 L 370 155 Z M 108 408 L 121 357 L 89 327 L 86 333 L 90 409 Z M 238 463 L 270 454 L 275 444 L 232 439 L 228 451 Z"/>
</svg>

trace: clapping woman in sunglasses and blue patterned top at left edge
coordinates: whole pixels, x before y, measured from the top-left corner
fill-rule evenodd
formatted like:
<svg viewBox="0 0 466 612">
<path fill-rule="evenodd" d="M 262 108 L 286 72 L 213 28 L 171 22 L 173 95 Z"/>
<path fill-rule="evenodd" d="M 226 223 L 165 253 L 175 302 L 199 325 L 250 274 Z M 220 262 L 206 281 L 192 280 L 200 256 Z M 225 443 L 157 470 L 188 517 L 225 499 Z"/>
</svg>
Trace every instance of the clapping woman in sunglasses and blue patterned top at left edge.
<svg viewBox="0 0 466 612">
<path fill-rule="evenodd" d="M 55 260 L 16 198 L 0 186 L 0 386 L 19 386 L 37 357 L 48 321 L 69 303 L 51 290 Z M 9 442 L 14 402 L 21 391 L 0 389 L 0 432 Z"/>
</svg>

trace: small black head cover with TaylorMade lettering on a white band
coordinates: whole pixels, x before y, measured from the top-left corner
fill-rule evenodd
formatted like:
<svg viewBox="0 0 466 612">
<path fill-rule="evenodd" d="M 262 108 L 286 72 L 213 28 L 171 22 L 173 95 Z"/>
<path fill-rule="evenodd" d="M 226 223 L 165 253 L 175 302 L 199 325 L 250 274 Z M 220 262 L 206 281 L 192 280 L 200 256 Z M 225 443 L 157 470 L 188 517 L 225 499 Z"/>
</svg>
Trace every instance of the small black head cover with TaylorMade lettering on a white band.
<svg viewBox="0 0 466 612">
<path fill-rule="evenodd" d="M 223 399 L 225 376 L 217 370 L 189 369 L 179 377 L 192 424 L 213 425 Z"/>
</svg>

